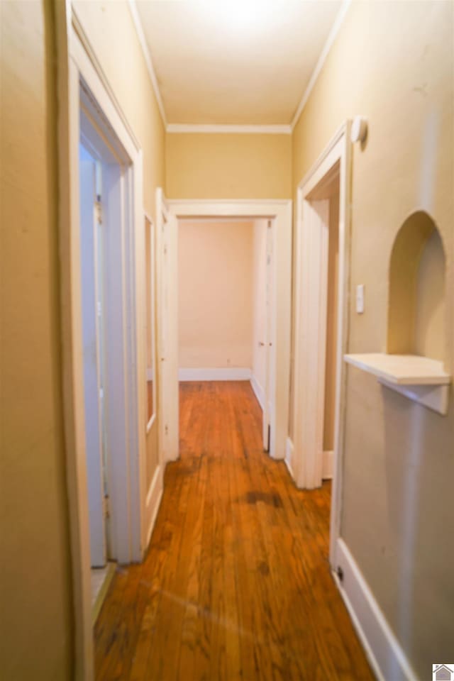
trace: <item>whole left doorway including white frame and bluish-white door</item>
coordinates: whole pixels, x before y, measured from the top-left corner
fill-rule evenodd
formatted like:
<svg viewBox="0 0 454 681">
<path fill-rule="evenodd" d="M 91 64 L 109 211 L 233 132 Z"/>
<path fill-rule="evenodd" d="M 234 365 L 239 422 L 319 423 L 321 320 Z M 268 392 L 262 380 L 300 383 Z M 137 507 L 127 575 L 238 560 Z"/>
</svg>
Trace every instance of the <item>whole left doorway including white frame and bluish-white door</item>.
<svg viewBox="0 0 454 681">
<path fill-rule="evenodd" d="M 148 532 L 143 160 L 87 36 L 74 15 L 63 28 L 66 18 L 58 13 L 62 402 L 74 674 L 85 678 L 93 661 L 90 566 L 141 560 Z"/>
</svg>

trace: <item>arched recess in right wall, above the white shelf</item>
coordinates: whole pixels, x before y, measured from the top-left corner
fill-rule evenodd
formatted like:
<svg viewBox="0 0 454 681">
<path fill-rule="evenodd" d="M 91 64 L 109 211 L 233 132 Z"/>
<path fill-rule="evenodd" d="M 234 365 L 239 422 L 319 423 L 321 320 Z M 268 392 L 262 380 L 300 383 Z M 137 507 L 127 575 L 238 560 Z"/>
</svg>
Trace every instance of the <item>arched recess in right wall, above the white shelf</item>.
<svg viewBox="0 0 454 681">
<path fill-rule="evenodd" d="M 387 353 L 445 361 L 445 252 L 425 211 L 397 233 L 389 262 Z"/>
</svg>

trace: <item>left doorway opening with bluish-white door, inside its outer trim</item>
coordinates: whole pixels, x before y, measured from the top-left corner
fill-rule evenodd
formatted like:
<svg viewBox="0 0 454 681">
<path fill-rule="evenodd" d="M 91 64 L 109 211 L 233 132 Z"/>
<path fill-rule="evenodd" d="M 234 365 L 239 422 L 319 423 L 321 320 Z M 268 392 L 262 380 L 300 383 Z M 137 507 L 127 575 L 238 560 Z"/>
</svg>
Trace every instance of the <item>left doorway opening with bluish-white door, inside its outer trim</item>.
<svg viewBox="0 0 454 681">
<path fill-rule="evenodd" d="M 98 120 L 96 120 L 96 116 Z M 118 139 L 101 133 L 99 114 L 81 88 L 79 121 L 79 239 L 84 380 L 85 458 L 92 586 L 92 614 L 115 571 L 118 517 L 123 490 L 116 486 L 118 454 L 126 440 L 120 416 L 129 387 L 124 384 L 121 286 L 114 284 L 123 258 L 122 182 L 128 159 Z M 127 195 L 127 192 L 126 192 Z M 124 216 L 126 218 L 126 216 Z M 120 270 L 118 270 L 120 267 Z M 118 279 L 118 277 L 117 277 Z M 122 392 L 123 391 L 123 392 Z M 122 423 L 123 421 L 123 423 Z"/>
</svg>

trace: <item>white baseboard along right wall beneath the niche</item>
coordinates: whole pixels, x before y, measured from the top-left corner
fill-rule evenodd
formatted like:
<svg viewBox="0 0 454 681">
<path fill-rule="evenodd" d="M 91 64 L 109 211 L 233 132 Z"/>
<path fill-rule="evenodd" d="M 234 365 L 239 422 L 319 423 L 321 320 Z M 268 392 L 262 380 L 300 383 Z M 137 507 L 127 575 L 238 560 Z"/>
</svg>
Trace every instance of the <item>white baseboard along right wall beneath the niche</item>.
<svg viewBox="0 0 454 681">
<path fill-rule="evenodd" d="M 337 541 L 336 563 L 343 572 L 342 581 L 333 573 L 336 584 L 377 679 L 416 681 L 409 660 L 343 539 Z"/>
</svg>

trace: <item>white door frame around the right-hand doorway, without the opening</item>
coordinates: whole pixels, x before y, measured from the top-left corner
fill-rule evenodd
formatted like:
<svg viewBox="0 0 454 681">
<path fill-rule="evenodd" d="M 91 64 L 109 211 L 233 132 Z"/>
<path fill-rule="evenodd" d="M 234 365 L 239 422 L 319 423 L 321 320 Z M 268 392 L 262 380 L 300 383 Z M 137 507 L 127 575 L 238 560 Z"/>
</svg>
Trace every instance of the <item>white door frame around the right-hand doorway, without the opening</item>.
<svg viewBox="0 0 454 681">
<path fill-rule="evenodd" d="M 350 281 L 350 121 L 299 183 L 295 239 L 294 331 L 294 442 L 291 467 L 298 487 L 321 485 L 326 347 L 326 291 L 328 235 L 311 206 L 311 195 L 339 167 L 338 331 L 336 339 L 336 408 L 334 419 L 333 487 L 331 500 L 330 560 L 336 565 L 336 543 L 341 517 L 344 438 L 345 365 Z M 316 262 L 315 262 L 316 261 Z"/>
</svg>

